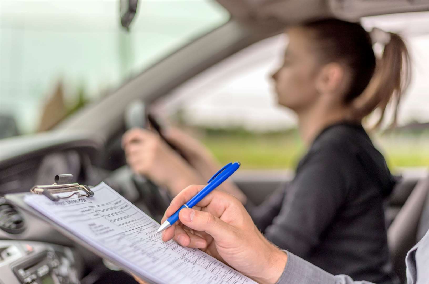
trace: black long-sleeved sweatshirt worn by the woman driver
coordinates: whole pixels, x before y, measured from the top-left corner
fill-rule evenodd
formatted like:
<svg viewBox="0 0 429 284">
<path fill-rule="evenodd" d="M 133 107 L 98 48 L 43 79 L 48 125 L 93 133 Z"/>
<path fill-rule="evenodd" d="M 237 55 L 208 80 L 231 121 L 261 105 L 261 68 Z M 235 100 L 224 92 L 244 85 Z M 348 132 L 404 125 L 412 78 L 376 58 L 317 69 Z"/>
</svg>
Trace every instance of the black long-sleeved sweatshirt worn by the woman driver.
<svg viewBox="0 0 429 284">
<path fill-rule="evenodd" d="M 317 136 L 290 183 L 246 207 L 278 247 L 334 275 L 390 284 L 384 198 L 394 184 L 363 127 L 339 123 Z"/>
</svg>

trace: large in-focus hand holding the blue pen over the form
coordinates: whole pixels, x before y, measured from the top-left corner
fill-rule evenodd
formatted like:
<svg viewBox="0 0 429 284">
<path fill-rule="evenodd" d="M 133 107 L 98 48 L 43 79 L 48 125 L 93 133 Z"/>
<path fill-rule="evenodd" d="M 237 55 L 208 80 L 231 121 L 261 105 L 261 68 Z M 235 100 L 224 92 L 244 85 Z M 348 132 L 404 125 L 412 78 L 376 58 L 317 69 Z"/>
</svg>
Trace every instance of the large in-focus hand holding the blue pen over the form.
<svg viewBox="0 0 429 284">
<path fill-rule="evenodd" d="M 182 190 L 162 222 L 203 187 L 191 185 Z M 259 232 L 236 197 L 214 190 L 192 209 L 182 209 L 179 220 L 163 231 L 163 241 L 174 238 L 183 246 L 202 249 L 259 283 L 275 283 L 280 278 L 287 254 Z"/>
</svg>

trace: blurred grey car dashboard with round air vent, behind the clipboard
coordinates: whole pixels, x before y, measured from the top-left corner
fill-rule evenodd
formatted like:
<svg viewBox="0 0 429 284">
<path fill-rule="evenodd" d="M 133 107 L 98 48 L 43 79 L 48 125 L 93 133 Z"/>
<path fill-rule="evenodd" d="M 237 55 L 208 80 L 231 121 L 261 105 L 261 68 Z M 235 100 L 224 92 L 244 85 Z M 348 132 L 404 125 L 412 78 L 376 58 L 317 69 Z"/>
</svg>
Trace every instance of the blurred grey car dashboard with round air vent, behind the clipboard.
<svg viewBox="0 0 429 284">
<path fill-rule="evenodd" d="M 0 141 L 0 283 L 77 284 L 85 265 L 100 258 L 54 230 L 8 199 L 35 184 L 52 184 L 54 176 L 88 176 L 103 143 L 78 133 L 45 133 Z"/>
</svg>

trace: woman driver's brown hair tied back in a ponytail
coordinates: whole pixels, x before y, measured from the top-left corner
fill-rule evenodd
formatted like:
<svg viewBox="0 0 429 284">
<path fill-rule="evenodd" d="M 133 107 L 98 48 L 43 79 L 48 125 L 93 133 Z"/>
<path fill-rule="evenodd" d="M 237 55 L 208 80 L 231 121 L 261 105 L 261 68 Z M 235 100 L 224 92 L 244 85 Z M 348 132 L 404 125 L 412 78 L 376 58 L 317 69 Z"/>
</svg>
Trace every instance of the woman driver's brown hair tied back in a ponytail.
<svg viewBox="0 0 429 284">
<path fill-rule="evenodd" d="M 350 104 L 352 118 L 362 120 L 374 110 L 380 112 L 375 124 L 380 127 L 389 103 L 394 109 L 396 124 L 398 107 L 411 79 L 407 46 L 396 33 L 388 33 L 390 41 L 383 55 L 376 59 L 369 33 L 359 24 L 338 19 L 312 21 L 301 25 L 311 31 L 320 63 L 338 62 L 350 72 L 349 88 L 344 103 Z"/>
</svg>

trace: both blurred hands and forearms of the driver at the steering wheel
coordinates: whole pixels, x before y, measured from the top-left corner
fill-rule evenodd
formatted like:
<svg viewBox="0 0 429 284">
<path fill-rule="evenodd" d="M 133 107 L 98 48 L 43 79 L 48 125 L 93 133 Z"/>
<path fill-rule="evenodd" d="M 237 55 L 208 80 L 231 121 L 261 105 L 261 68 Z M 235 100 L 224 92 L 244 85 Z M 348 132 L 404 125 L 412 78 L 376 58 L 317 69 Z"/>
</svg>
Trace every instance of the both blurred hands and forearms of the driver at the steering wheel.
<svg viewBox="0 0 429 284">
<path fill-rule="evenodd" d="M 122 148 L 133 172 L 145 175 L 158 185 L 165 185 L 175 196 L 189 184 L 203 184 L 221 166 L 196 139 L 172 128 L 166 139 L 182 151 L 189 163 L 164 142 L 159 135 L 142 128 L 128 130 L 122 137 Z M 219 189 L 246 202 L 245 194 L 231 181 Z"/>
</svg>

